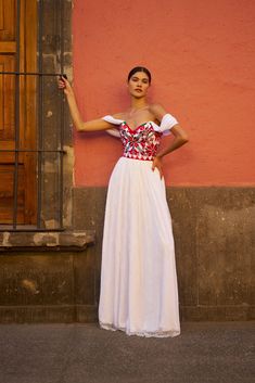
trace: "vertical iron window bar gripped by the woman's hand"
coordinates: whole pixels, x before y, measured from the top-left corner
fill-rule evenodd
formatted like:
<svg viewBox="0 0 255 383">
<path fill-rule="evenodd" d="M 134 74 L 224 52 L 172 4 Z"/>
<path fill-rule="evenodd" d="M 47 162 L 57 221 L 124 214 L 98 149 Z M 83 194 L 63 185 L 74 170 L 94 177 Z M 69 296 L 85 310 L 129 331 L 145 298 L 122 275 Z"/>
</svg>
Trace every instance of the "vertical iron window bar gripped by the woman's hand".
<svg viewBox="0 0 255 383">
<path fill-rule="evenodd" d="M 60 41 L 61 41 L 61 47 L 60 47 L 60 63 L 61 63 L 61 73 L 64 73 L 64 5 L 65 2 L 59 1 L 59 7 L 60 7 Z M 63 145 L 64 145 L 64 130 L 65 130 L 65 118 L 64 118 L 64 102 L 65 98 L 63 97 L 63 93 L 61 93 L 61 124 L 60 124 L 60 213 L 59 213 L 59 222 L 60 227 L 63 228 Z"/>
</svg>

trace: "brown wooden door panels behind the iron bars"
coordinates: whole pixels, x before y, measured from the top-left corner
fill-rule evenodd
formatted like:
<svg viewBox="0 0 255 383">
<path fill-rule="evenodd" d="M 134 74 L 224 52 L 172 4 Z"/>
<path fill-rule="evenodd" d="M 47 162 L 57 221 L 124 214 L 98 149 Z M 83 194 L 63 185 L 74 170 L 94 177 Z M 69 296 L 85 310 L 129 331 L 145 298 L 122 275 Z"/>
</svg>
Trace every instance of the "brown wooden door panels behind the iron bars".
<svg viewBox="0 0 255 383">
<path fill-rule="evenodd" d="M 37 71 L 37 0 L 20 0 L 20 41 L 16 0 L 0 0 L 0 72 Z M 15 153 L 17 159 L 17 224 L 36 221 L 37 155 L 25 152 L 36 149 L 36 78 L 0 74 L 0 224 L 12 224 L 14 209 Z M 15 129 L 17 89 L 18 135 Z M 18 100 L 18 99 L 16 99 Z M 15 146 L 15 139 L 17 144 Z"/>
</svg>

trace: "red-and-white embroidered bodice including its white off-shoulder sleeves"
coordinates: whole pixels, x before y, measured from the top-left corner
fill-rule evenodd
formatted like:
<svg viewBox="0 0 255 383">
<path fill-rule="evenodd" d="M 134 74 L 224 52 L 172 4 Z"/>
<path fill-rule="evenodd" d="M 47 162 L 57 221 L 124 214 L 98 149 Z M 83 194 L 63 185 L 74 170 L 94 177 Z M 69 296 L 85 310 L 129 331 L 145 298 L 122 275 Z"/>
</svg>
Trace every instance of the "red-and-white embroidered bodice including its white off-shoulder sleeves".
<svg viewBox="0 0 255 383">
<path fill-rule="evenodd" d="M 112 116 L 105 116 L 103 119 L 118 126 L 124 157 L 142 161 L 152 161 L 155 157 L 162 135 L 168 135 L 170 128 L 178 124 L 170 114 L 163 117 L 160 126 L 153 122 L 146 122 L 136 129 L 131 129 L 125 120 Z"/>
</svg>

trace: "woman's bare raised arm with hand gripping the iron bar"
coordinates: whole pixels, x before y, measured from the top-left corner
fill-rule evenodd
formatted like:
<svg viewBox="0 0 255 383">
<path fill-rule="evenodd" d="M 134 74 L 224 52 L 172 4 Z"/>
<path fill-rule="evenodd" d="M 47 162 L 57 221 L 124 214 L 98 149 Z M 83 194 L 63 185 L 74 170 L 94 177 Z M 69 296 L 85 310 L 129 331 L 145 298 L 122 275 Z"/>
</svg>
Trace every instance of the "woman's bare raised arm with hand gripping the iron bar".
<svg viewBox="0 0 255 383">
<path fill-rule="evenodd" d="M 98 119 L 93 119 L 90 122 L 84 122 L 80 113 L 79 113 L 79 108 L 75 99 L 75 93 L 74 90 L 72 88 L 72 86 L 69 85 L 69 82 L 64 78 L 61 77 L 59 79 L 59 88 L 64 90 L 64 93 L 66 95 L 66 100 L 68 102 L 68 106 L 69 106 L 69 112 L 71 112 L 71 116 L 74 123 L 74 126 L 76 128 L 76 130 L 78 131 L 94 131 L 94 130 L 107 130 L 113 128 L 112 124 L 98 118 Z"/>
</svg>

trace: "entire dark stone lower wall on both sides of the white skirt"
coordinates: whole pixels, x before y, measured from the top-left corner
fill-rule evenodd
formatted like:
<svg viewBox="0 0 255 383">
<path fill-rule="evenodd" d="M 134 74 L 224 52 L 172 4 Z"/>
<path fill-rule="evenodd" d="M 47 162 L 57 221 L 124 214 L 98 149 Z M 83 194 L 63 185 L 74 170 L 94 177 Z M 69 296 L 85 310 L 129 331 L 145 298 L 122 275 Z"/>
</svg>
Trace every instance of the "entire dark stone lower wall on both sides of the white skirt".
<svg viewBox="0 0 255 383">
<path fill-rule="evenodd" d="M 2 235 L 0 322 L 98 321 L 105 199 L 74 189 L 73 233 Z M 180 320 L 255 320 L 255 188 L 168 188 L 167 200 Z"/>
</svg>

